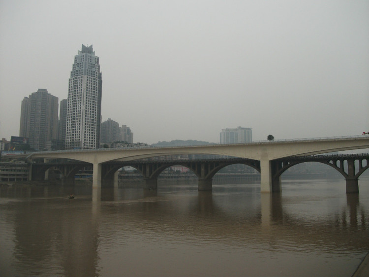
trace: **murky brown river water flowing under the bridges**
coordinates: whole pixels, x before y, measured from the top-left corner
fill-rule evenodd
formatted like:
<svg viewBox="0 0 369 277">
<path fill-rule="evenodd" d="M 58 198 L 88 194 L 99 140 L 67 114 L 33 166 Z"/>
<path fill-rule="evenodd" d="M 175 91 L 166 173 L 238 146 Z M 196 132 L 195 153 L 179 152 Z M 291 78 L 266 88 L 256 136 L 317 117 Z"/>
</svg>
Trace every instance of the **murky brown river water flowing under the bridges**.
<svg viewBox="0 0 369 277">
<path fill-rule="evenodd" d="M 350 277 L 369 251 L 369 178 L 0 188 L 0 276 Z M 73 193 L 74 199 L 67 199 Z"/>
</svg>

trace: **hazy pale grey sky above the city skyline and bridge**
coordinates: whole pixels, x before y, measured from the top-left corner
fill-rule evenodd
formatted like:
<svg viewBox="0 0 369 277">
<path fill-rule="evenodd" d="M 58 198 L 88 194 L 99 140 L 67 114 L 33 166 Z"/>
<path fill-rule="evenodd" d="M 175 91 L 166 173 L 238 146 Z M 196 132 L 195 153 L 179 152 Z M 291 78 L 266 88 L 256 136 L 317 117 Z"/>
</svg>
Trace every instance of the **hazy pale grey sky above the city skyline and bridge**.
<svg viewBox="0 0 369 277">
<path fill-rule="evenodd" d="M 0 138 L 25 96 L 67 98 L 82 44 L 134 142 L 369 131 L 368 0 L 0 0 Z"/>
</svg>

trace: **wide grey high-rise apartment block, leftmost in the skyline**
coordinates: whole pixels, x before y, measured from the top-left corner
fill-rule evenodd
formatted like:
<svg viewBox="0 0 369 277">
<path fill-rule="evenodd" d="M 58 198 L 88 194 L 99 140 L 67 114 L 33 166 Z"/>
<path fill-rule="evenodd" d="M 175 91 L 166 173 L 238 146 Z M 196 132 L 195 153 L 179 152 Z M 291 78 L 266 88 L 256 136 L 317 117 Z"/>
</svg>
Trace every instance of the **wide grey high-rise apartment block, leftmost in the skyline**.
<svg viewBox="0 0 369 277">
<path fill-rule="evenodd" d="M 47 141 L 57 138 L 58 107 L 58 97 L 47 89 L 38 89 L 23 99 L 19 136 L 29 138 L 31 148 L 46 149 Z"/>
</svg>

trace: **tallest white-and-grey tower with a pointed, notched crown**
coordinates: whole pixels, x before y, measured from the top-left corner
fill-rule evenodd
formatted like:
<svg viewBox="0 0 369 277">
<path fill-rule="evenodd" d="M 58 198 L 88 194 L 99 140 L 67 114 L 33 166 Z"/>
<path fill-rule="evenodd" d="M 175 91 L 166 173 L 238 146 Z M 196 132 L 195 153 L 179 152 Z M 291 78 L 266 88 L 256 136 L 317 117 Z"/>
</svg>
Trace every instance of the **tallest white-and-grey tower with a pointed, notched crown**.
<svg viewBox="0 0 369 277">
<path fill-rule="evenodd" d="M 70 71 L 65 148 L 99 148 L 102 73 L 92 45 L 74 57 Z"/>
</svg>

